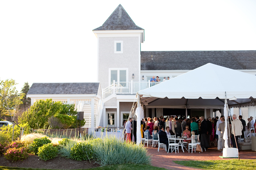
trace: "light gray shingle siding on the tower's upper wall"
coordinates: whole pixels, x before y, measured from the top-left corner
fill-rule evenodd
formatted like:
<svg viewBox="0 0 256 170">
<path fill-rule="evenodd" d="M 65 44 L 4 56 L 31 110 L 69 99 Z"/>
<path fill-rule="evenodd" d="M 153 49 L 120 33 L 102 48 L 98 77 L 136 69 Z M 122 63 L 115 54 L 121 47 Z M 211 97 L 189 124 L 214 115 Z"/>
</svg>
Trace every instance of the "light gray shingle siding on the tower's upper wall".
<svg viewBox="0 0 256 170">
<path fill-rule="evenodd" d="M 109 86 L 109 68 L 128 68 L 128 81 L 139 81 L 139 37 L 98 38 L 98 80 L 101 88 Z M 123 53 L 114 53 L 114 41 L 123 41 Z"/>
</svg>

